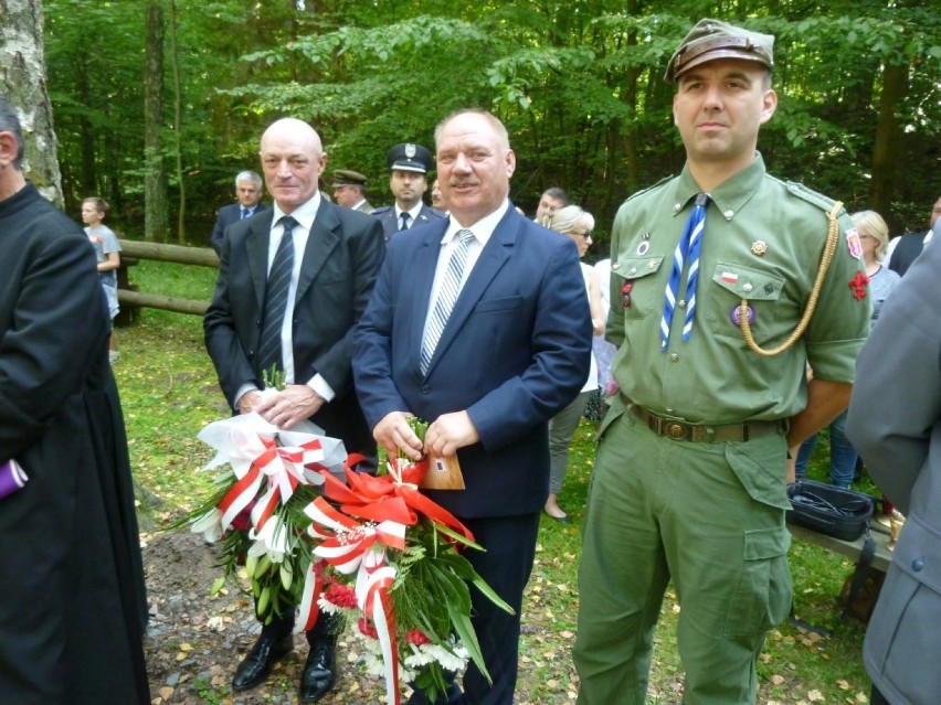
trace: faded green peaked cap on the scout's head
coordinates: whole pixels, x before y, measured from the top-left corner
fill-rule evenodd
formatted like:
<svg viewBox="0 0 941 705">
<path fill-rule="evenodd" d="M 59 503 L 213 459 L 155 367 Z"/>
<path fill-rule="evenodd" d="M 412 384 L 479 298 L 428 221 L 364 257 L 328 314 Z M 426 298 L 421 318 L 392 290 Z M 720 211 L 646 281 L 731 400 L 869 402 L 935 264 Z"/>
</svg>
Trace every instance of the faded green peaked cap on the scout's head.
<svg viewBox="0 0 941 705">
<path fill-rule="evenodd" d="M 674 82 L 699 64 L 717 58 L 741 58 L 774 67 L 774 38 L 720 20 L 699 20 L 683 39 L 667 64 L 664 78 Z"/>
</svg>

